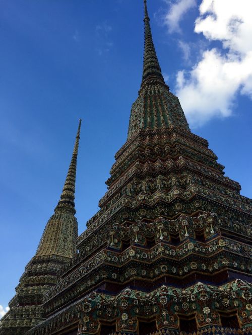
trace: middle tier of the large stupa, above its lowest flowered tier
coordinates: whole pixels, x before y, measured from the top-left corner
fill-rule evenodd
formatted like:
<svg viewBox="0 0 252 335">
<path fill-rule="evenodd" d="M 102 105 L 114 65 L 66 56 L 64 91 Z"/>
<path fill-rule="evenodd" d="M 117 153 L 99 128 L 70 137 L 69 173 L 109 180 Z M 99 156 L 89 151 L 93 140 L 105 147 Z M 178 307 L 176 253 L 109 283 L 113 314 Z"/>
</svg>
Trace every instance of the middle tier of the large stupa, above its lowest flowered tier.
<svg viewBox="0 0 252 335">
<path fill-rule="evenodd" d="M 196 218 L 180 215 L 173 221 L 159 218 L 129 227 L 114 225 L 107 232 L 105 247 L 93 256 L 80 253 L 61 270 L 59 283 L 44 295 L 46 313 L 104 284 L 111 291 L 133 281 L 141 286 L 140 279 L 148 287 L 160 280 L 184 283 L 192 278 L 211 278 L 214 283 L 228 276 L 249 280 L 252 248 L 224 237 L 224 230 L 222 236 L 219 224 L 225 231 L 226 226 L 230 231 L 239 229 L 239 225 L 209 212 Z M 249 237 L 251 229 L 243 228 Z"/>
</svg>

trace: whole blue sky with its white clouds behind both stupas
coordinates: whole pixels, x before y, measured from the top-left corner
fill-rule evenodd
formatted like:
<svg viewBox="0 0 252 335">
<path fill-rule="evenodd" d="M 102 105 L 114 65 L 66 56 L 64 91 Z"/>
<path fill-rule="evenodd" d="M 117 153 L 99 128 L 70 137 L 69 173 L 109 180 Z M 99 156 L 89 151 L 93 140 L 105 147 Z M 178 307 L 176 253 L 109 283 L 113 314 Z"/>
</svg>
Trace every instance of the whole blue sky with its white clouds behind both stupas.
<svg viewBox="0 0 252 335">
<path fill-rule="evenodd" d="M 250 0 L 148 2 L 171 92 L 251 198 Z M 0 0 L 0 22 L 3 315 L 57 204 L 80 117 L 79 233 L 98 210 L 140 88 L 143 2 Z"/>
</svg>

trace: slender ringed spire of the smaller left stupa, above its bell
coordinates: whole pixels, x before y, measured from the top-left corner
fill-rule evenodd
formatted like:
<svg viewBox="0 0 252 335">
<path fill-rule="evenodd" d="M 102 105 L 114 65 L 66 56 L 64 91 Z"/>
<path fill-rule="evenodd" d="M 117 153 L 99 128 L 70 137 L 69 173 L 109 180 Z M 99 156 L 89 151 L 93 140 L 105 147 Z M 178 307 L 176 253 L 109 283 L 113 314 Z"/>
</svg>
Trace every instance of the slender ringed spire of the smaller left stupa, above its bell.
<svg viewBox="0 0 252 335">
<path fill-rule="evenodd" d="M 75 207 L 75 181 L 76 181 L 76 167 L 77 167 L 77 155 L 80 141 L 80 132 L 81 132 L 81 119 L 79 121 L 79 127 L 76 135 L 75 145 L 72 160 L 69 166 L 67 178 L 65 185 L 60 196 L 60 200 L 55 208 L 55 211 L 63 207 Z"/>
</svg>

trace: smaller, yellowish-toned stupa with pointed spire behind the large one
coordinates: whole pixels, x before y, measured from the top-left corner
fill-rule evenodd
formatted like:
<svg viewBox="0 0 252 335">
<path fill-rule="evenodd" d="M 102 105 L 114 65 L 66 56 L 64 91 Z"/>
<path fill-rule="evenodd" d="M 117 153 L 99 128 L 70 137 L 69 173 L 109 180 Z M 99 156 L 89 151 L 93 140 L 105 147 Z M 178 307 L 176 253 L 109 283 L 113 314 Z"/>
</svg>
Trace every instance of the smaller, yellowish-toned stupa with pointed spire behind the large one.
<svg viewBox="0 0 252 335">
<path fill-rule="evenodd" d="M 26 334 L 45 318 L 41 305 L 43 294 L 57 283 L 59 269 L 77 254 L 74 199 L 80 130 L 81 120 L 60 200 L 46 224 L 35 256 L 25 267 L 16 295 L 9 302 L 10 310 L 1 320 L 1 335 Z"/>
</svg>

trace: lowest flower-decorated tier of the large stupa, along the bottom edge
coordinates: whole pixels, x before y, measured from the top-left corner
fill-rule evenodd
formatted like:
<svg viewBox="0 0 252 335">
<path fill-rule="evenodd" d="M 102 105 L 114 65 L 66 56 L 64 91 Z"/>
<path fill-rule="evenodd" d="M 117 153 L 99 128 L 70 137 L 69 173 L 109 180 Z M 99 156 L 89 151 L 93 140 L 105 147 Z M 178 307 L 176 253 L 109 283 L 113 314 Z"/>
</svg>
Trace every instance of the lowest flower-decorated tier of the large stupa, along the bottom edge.
<svg viewBox="0 0 252 335">
<path fill-rule="evenodd" d="M 226 318 L 247 328 L 249 333 L 251 291 L 252 285 L 239 279 L 220 286 L 198 282 L 184 288 L 168 284 L 145 291 L 125 288 L 115 295 L 101 289 L 49 316 L 29 334 L 59 334 L 66 326 L 76 329 L 72 333 L 98 334 L 100 330 L 102 333 L 103 324 L 106 329 L 109 325 L 111 333 L 113 328 L 116 332 L 133 334 L 145 320 L 151 326 L 154 321 L 156 331 L 168 328 L 178 333 L 183 320 L 188 320 L 188 326 L 195 323 L 199 329 L 208 326 L 218 329 Z"/>
</svg>

